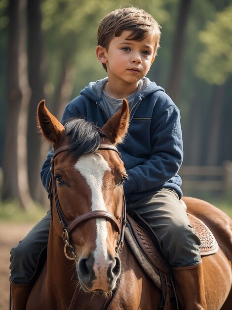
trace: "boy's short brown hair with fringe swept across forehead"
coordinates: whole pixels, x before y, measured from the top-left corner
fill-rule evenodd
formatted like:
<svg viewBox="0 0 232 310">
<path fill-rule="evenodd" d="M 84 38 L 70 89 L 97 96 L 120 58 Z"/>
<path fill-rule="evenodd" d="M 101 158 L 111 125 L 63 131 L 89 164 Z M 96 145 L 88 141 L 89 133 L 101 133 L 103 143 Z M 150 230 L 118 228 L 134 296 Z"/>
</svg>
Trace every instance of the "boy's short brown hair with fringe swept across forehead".
<svg viewBox="0 0 232 310">
<path fill-rule="evenodd" d="M 149 13 L 136 7 L 116 9 L 107 14 L 100 22 L 97 45 L 108 49 L 113 37 L 119 37 L 123 30 L 131 30 L 127 40 L 142 41 L 148 35 L 154 35 L 155 55 L 159 48 L 160 26 Z M 106 64 L 103 63 L 106 70 Z"/>
</svg>

